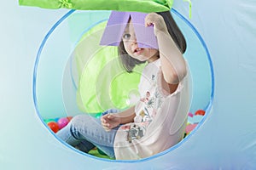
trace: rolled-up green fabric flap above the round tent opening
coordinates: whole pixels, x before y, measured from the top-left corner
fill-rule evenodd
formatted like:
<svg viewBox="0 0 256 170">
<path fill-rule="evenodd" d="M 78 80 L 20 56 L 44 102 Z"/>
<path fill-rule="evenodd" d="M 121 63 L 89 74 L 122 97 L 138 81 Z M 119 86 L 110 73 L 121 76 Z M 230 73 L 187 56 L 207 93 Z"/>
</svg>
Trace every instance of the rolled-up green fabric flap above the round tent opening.
<svg viewBox="0 0 256 170">
<path fill-rule="evenodd" d="M 19 3 L 20 5 L 40 8 L 118 10 L 150 13 L 170 10 L 173 0 L 19 0 Z"/>
</svg>

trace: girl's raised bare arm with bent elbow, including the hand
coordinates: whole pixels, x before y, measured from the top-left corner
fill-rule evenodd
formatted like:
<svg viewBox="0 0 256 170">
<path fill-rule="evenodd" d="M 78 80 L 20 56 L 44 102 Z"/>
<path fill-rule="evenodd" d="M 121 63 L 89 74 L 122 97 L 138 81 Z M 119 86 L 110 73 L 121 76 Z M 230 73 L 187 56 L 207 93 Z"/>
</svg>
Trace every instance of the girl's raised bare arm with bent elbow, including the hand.
<svg viewBox="0 0 256 170">
<path fill-rule="evenodd" d="M 177 48 L 169 34 L 165 20 L 160 14 L 150 13 L 145 18 L 145 26 L 154 25 L 154 34 L 160 51 L 160 62 L 163 76 L 169 84 L 177 84 L 187 74 L 183 54 Z"/>
</svg>

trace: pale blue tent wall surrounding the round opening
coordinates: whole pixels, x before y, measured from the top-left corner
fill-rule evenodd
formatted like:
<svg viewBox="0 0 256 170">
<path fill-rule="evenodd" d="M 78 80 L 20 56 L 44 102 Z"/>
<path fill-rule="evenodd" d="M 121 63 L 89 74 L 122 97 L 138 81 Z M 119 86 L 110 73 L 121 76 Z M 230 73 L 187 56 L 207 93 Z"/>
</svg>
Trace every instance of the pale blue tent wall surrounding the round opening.
<svg viewBox="0 0 256 170">
<path fill-rule="evenodd" d="M 102 161 L 67 148 L 38 119 L 32 72 L 50 27 L 68 10 L 20 7 L 5 1 L 0 42 L 1 169 L 255 169 L 256 1 L 192 1 L 189 20 L 212 57 L 212 112 L 175 150 L 144 161 Z M 188 16 L 188 6 L 174 8 Z M 90 168 L 89 168 L 90 167 Z"/>
</svg>

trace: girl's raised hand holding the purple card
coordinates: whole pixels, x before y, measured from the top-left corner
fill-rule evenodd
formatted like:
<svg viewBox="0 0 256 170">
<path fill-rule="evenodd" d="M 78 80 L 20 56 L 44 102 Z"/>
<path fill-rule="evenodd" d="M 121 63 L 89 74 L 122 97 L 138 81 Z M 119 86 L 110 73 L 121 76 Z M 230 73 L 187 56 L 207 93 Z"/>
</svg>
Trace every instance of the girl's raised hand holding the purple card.
<svg viewBox="0 0 256 170">
<path fill-rule="evenodd" d="M 159 31 L 168 33 L 166 22 L 160 14 L 150 13 L 145 17 L 145 26 L 154 26 L 154 35 Z"/>
</svg>

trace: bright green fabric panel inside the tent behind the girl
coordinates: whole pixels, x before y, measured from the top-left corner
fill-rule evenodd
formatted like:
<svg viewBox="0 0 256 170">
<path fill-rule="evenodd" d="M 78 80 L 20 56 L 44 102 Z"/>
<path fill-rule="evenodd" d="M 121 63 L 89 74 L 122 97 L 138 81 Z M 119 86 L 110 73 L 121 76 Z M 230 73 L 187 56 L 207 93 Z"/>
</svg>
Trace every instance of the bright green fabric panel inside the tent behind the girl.
<svg viewBox="0 0 256 170">
<path fill-rule="evenodd" d="M 103 22 L 87 31 L 73 51 L 79 80 L 77 103 L 80 111 L 91 115 L 134 105 L 144 67 L 139 65 L 127 73 L 119 65 L 117 47 L 99 45 L 105 26 Z"/>
</svg>

